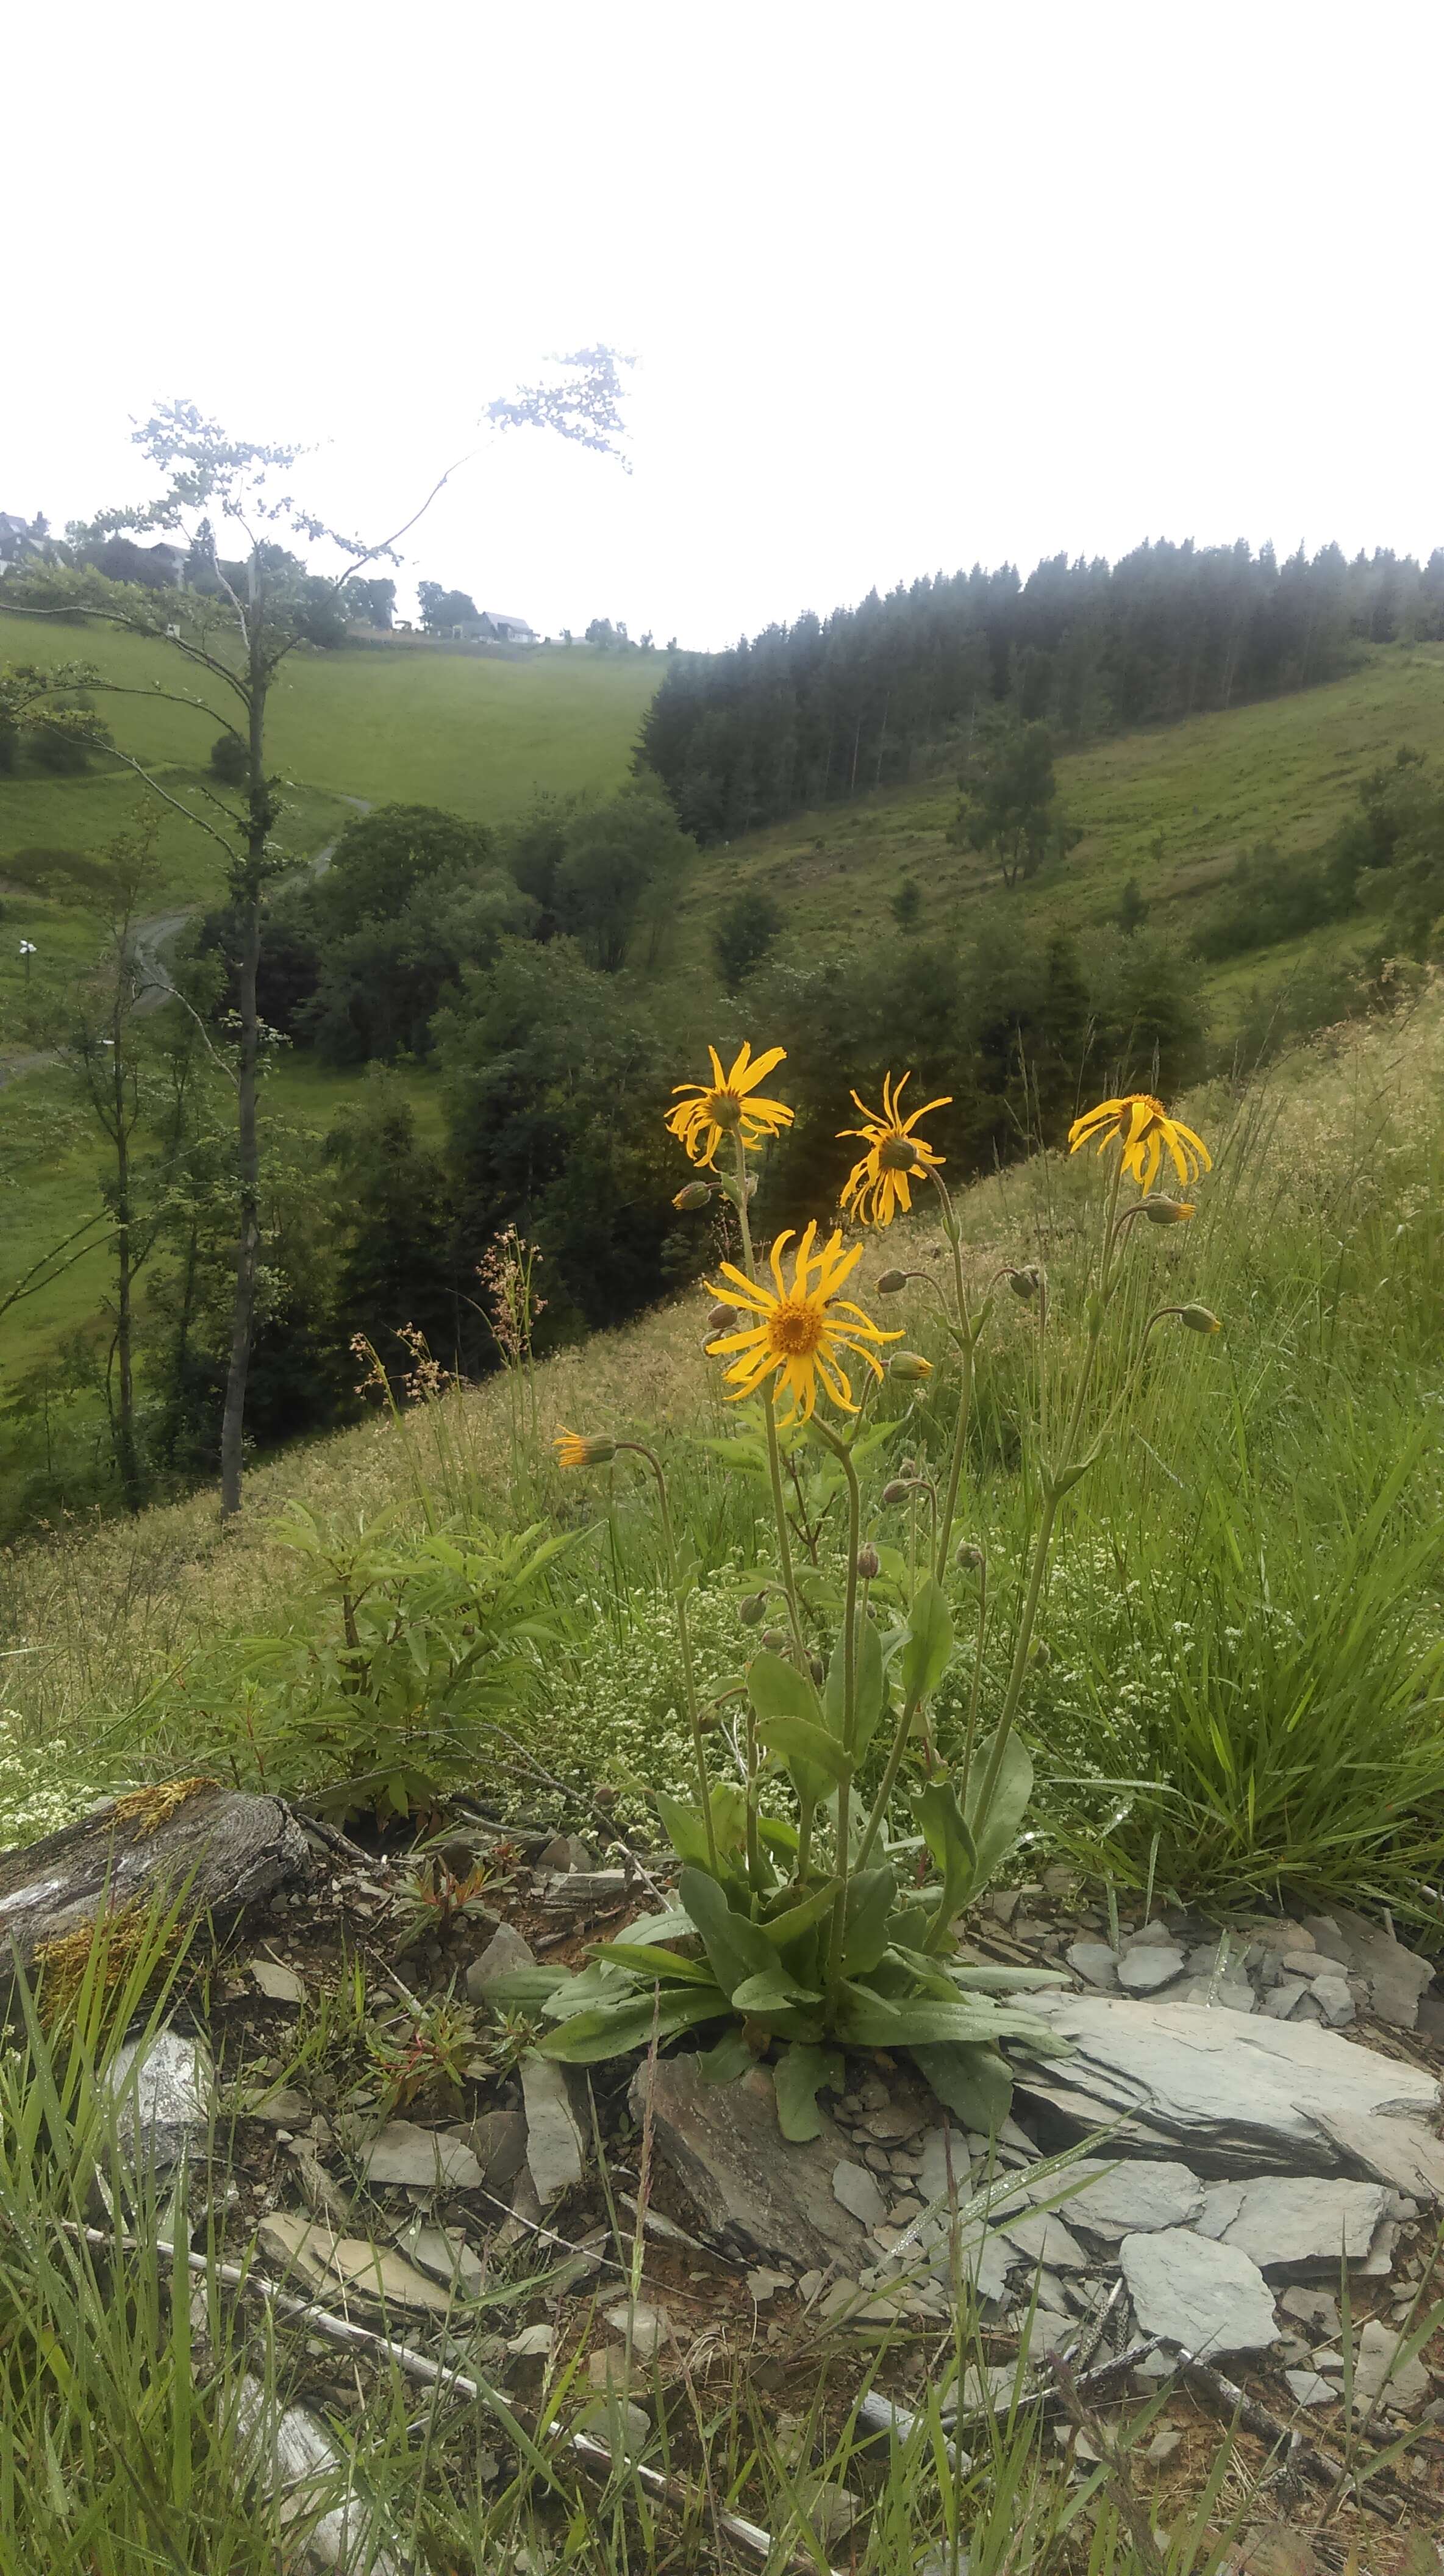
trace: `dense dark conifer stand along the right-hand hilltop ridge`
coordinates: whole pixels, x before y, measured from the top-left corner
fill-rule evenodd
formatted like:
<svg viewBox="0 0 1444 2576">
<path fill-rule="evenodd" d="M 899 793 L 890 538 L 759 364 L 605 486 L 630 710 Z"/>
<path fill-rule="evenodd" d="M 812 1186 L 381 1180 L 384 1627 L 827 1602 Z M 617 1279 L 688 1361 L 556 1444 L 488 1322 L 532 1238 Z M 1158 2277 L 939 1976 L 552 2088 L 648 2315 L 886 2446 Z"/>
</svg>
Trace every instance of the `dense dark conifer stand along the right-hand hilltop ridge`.
<svg viewBox="0 0 1444 2576">
<path fill-rule="evenodd" d="M 641 732 L 700 842 L 896 786 L 968 755 L 1006 711 L 1063 739 L 1310 688 L 1364 644 L 1444 636 L 1444 549 L 1418 564 L 1338 546 L 1143 544 L 1117 564 L 937 574 L 829 618 L 677 654 Z"/>
</svg>

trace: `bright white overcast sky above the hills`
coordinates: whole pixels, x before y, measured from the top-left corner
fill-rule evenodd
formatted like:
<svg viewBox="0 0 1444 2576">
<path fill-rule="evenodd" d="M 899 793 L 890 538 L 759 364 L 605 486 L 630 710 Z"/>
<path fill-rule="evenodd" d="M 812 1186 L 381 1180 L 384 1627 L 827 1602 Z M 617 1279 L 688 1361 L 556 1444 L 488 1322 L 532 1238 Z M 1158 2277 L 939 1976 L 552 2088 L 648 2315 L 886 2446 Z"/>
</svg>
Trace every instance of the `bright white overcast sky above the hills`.
<svg viewBox="0 0 1444 2576">
<path fill-rule="evenodd" d="M 0 510 L 142 497 L 188 394 L 404 580 L 721 644 L 1143 536 L 1444 544 L 1439 0 L 131 0 L 13 10 Z"/>
</svg>

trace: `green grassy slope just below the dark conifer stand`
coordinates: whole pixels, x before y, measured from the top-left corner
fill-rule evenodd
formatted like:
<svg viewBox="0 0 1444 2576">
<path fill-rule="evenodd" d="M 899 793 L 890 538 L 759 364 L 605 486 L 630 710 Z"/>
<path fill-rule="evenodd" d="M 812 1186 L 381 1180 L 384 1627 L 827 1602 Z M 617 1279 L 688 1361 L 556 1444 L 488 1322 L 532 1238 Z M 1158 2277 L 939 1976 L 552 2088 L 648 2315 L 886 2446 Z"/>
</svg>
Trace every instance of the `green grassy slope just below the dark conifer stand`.
<svg viewBox="0 0 1444 2576">
<path fill-rule="evenodd" d="M 1084 837 L 1017 894 L 999 889 L 978 853 L 950 848 L 952 773 L 798 814 L 705 855 L 682 914 L 685 943 L 705 953 L 713 909 L 739 886 L 772 894 L 803 938 L 867 938 L 909 876 L 921 891 L 919 927 L 947 935 L 965 935 L 981 904 L 1048 930 L 1099 927 L 1112 920 L 1127 878 L 1138 878 L 1151 920 L 1187 940 L 1238 853 L 1259 840 L 1279 850 L 1320 845 L 1359 781 L 1400 742 L 1444 755 L 1439 644 L 1382 647 L 1364 670 L 1328 688 L 1063 755 L 1058 788 Z M 1315 935 L 1310 948 L 1328 938 Z M 1338 938 L 1356 943 L 1359 927 L 1344 925 Z M 1290 953 L 1256 953 L 1207 971 L 1223 1025 L 1259 971 L 1284 971 L 1292 951 L 1295 943 Z"/>
</svg>

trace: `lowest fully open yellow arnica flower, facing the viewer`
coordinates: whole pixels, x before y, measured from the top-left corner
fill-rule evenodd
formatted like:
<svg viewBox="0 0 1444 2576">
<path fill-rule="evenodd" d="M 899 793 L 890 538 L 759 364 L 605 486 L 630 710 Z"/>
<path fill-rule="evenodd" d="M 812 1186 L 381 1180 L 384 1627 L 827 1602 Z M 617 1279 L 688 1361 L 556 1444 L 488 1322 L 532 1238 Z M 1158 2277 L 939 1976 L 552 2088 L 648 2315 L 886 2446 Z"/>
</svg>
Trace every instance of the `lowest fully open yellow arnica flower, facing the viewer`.
<svg viewBox="0 0 1444 2576">
<path fill-rule="evenodd" d="M 867 1345 L 901 1342 L 901 1332 L 883 1332 L 860 1306 L 837 1293 L 862 1260 L 862 1244 L 852 1244 L 852 1252 L 844 1252 L 842 1234 L 831 1234 L 824 1249 L 813 1252 L 816 1231 L 816 1226 L 808 1226 L 798 1244 L 790 1285 L 782 1255 L 793 1242 L 793 1231 L 777 1236 L 772 1244 L 775 1293 L 772 1288 L 754 1285 L 731 1262 L 721 1265 L 726 1288 L 713 1288 L 710 1280 L 703 1280 L 710 1296 L 726 1298 L 746 1316 L 757 1316 L 741 1332 L 723 1332 L 718 1342 L 708 1342 L 710 1358 L 734 1360 L 726 1370 L 726 1383 L 734 1388 L 728 1404 L 741 1404 L 744 1396 L 757 1394 L 764 1378 L 775 1378 L 775 1394 L 780 1391 L 793 1399 L 790 1412 L 777 1417 L 780 1422 L 811 1419 L 819 1378 L 831 1401 L 855 1414 L 852 1381 L 839 1363 L 839 1352 L 852 1352 L 852 1358 L 862 1360 L 880 1378 L 883 1363 Z"/>
</svg>

